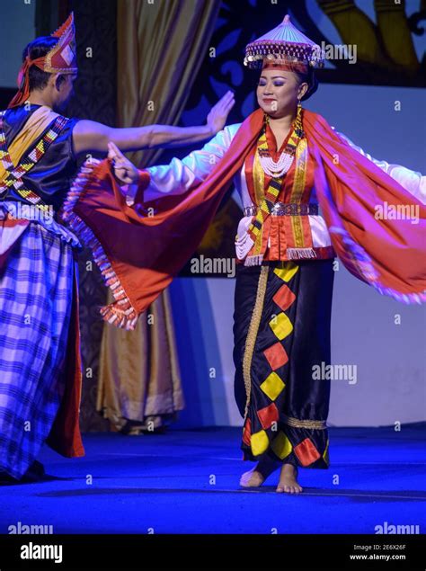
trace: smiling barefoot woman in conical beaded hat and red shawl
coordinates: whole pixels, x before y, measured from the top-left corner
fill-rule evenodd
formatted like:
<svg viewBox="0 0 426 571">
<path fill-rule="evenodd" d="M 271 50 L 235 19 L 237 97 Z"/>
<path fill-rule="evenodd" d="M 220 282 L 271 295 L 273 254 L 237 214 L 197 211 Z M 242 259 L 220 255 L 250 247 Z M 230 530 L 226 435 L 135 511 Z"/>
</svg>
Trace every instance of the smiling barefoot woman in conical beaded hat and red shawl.
<svg viewBox="0 0 426 571">
<path fill-rule="evenodd" d="M 277 492 L 299 493 L 298 467 L 329 465 L 330 380 L 316 379 L 314 371 L 330 363 L 333 258 L 337 254 L 381 293 L 406 303 L 426 299 L 424 177 L 376 161 L 322 117 L 302 110 L 300 102 L 315 92 L 313 67 L 322 59 L 288 16 L 247 46 L 244 63 L 262 66 L 262 75 L 260 109 L 243 124 L 226 127 L 182 160 L 142 172 L 111 147 L 115 168 L 138 182 L 136 192 L 124 190 L 135 210 L 122 203 L 105 165 L 79 184 L 86 200 L 96 191 L 98 203 L 99 181 L 112 184 L 120 204 L 116 209 L 108 202 L 111 223 L 118 216 L 120 225 L 130 220 L 126 247 L 145 245 L 132 257 L 142 270 L 123 272 L 106 254 L 125 301 L 117 299 L 104 313 L 131 327 L 128 316 L 134 320 L 191 256 L 235 177 L 244 205 L 235 239 L 235 398 L 244 416 L 244 459 L 257 462 L 240 483 L 261 486 L 280 468 Z M 420 224 L 377 219 L 382 201 L 414 203 Z M 150 204 L 155 215 L 141 218 L 141 206 Z M 83 217 L 90 227 L 97 207 L 89 208 L 90 216 L 83 209 L 81 201 L 77 222 Z M 118 247 L 114 238 L 100 240 L 106 250 Z"/>
</svg>

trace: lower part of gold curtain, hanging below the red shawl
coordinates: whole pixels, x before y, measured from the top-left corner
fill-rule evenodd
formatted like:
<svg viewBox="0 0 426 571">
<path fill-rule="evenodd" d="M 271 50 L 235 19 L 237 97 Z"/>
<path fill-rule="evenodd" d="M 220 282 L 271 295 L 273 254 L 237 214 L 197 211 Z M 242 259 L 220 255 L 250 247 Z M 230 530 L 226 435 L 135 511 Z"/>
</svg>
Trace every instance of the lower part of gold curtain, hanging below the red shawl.
<svg viewBox="0 0 426 571">
<path fill-rule="evenodd" d="M 183 404 L 166 291 L 135 331 L 104 326 L 97 408 L 115 429 L 138 432 L 172 420 Z"/>
</svg>

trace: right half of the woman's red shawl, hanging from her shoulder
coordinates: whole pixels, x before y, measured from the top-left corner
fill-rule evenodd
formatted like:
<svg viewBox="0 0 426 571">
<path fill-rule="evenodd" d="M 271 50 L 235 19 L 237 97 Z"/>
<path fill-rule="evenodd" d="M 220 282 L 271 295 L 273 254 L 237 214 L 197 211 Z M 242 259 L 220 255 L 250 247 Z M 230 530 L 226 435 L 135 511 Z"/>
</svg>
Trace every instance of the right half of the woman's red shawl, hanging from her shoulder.
<svg viewBox="0 0 426 571">
<path fill-rule="evenodd" d="M 336 254 L 359 280 L 405 303 L 426 300 L 426 206 L 342 140 L 324 117 L 304 113 L 315 189 Z M 416 205 L 419 223 L 376 219 L 377 205 Z"/>
</svg>

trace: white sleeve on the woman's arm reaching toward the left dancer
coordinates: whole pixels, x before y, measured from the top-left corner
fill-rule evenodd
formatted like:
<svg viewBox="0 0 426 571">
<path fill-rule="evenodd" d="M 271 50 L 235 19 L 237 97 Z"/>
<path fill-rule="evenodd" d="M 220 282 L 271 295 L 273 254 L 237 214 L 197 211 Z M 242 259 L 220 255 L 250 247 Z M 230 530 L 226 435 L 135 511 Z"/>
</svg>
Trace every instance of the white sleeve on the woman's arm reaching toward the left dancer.
<svg viewBox="0 0 426 571">
<path fill-rule="evenodd" d="M 144 192 L 144 201 L 183 194 L 204 181 L 225 155 L 239 127 L 240 124 L 226 127 L 199 151 L 193 151 L 182 159 L 173 158 L 169 165 L 147 168 L 151 180 Z"/>
</svg>

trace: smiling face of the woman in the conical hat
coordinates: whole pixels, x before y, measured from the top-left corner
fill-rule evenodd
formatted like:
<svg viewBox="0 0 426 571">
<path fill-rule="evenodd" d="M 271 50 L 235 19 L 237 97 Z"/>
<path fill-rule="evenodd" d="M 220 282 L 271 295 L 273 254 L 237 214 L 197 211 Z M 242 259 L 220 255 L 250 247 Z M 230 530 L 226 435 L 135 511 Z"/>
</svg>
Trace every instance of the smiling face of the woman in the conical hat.
<svg viewBox="0 0 426 571">
<path fill-rule="evenodd" d="M 257 102 L 265 113 L 280 119 L 296 111 L 297 96 L 302 97 L 307 86 L 292 71 L 263 69 L 257 85 Z"/>
</svg>

